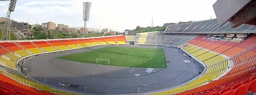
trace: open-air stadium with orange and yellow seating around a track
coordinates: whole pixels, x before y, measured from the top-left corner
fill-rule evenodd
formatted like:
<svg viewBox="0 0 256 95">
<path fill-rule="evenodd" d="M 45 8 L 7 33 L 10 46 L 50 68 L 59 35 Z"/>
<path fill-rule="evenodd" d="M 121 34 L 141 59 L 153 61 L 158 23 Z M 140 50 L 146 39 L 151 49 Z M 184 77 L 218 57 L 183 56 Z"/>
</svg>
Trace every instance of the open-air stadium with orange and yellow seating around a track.
<svg viewBox="0 0 256 95">
<path fill-rule="evenodd" d="M 223 2 L 245 3 L 230 13 Z M 217 19 L 163 32 L 1 40 L 0 94 L 255 95 L 253 6 L 255 0 L 218 0 Z"/>
</svg>

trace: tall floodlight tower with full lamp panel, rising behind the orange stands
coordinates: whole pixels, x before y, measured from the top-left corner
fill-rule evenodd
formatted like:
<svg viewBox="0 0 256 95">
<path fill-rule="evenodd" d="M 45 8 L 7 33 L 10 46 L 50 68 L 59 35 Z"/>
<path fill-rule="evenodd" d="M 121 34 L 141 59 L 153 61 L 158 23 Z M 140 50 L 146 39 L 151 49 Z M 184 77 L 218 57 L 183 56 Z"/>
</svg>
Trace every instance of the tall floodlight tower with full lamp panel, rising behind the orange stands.
<svg viewBox="0 0 256 95">
<path fill-rule="evenodd" d="M 90 2 L 84 2 L 84 10 L 83 10 L 84 29 L 87 28 L 86 22 L 89 21 L 91 5 L 92 3 Z"/>
</svg>

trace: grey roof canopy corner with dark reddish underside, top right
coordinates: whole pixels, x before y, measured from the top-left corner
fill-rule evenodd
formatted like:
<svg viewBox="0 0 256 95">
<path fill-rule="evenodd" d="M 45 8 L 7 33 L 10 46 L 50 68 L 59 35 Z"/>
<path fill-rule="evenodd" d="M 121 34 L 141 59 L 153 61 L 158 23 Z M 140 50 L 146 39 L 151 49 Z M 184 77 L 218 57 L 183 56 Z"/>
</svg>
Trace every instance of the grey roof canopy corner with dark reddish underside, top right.
<svg viewBox="0 0 256 95">
<path fill-rule="evenodd" d="M 227 21 L 232 27 L 256 25 L 256 0 L 218 0 L 213 9 L 220 26 Z"/>
</svg>

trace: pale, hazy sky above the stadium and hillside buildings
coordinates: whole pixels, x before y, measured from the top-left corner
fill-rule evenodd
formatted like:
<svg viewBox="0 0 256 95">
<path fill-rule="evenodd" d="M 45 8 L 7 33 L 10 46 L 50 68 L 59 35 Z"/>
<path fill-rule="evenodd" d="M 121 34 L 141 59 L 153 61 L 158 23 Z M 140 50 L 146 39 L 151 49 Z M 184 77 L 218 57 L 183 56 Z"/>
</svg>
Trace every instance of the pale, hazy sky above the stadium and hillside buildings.
<svg viewBox="0 0 256 95">
<path fill-rule="evenodd" d="M 83 27 L 83 2 L 91 2 L 89 28 L 135 29 L 163 23 L 216 18 L 212 5 L 217 0 L 17 0 L 11 19 L 29 24 L 52 21 Z M 0 1 L 0 17 L 6 17 L 9 1 Z"/>
</svg>

